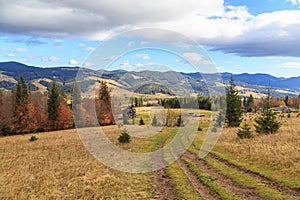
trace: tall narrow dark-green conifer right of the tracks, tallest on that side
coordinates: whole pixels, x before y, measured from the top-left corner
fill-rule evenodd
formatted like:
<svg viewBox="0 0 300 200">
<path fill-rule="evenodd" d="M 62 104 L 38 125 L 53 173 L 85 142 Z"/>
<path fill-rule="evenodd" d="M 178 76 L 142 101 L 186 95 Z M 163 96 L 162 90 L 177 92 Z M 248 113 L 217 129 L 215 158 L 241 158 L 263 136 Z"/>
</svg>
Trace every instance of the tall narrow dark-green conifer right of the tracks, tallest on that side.
<svg viewBox="0 0 300 200">
<path fill-rule="evenodd" d="M 228 127 L 238 127 L 242 122 L 242 107 L 238 92 L 235 89 L 233 78 L 231 77 L 229 86 L 226 88 L 226 122 Z"/>
</svg>

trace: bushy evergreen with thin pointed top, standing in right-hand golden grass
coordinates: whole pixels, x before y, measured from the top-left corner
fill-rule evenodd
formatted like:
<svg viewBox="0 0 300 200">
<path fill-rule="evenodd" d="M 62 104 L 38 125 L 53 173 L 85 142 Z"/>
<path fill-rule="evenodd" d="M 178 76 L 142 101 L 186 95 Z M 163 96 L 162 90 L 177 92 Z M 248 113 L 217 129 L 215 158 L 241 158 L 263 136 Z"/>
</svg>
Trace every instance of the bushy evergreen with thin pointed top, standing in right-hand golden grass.
<svg viewBox="0 0 300 200">
<path fill-rule="evenodd" d="M 255 129 L 260 134 L 271 134 L 278 131 L 280 128 L 280 122 L 276 120 L 276 114 L 272 111 L 270 103 L 270 88 L 268 96 L 263 103 L 262 114 L 255 119 Z"/>
</svg>

